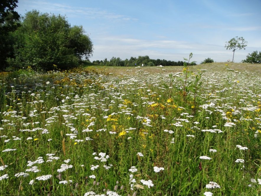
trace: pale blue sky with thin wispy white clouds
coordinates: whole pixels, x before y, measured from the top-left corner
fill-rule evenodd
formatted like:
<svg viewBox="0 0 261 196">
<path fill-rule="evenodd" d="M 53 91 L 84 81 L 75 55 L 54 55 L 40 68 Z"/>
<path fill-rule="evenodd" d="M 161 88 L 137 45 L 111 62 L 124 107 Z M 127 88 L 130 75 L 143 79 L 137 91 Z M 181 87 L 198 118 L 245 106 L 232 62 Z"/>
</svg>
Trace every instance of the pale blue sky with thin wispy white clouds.
<svg viewBox="0 0 261 196">
<path fill-rule="evenodd" d="M 145 55 L 179 61 L 192 52 L 200 63 L 232 60 L 224 46 L 236 36 L 248 46 L 235 51 L 235 62 L 261 51 L 260 8 L 261 0 L 19 0 L 17 11 L 66 15 L 82 25 L 94 45 L 91 61 Z"/>
</svg>

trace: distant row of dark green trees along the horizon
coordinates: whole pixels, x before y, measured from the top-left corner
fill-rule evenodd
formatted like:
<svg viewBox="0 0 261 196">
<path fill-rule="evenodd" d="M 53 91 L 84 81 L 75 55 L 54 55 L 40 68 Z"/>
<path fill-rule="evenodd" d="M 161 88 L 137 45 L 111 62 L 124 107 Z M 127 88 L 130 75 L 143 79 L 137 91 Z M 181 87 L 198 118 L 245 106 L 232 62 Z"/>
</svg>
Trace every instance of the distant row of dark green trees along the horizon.
<svg viewBox="0 0 261 196">
<path fill-rule="evenodd" d="M 120 66 L 120 67 L 133 67 L 133 66 L 183 66 L 183 61 L 168 61 L 161 59 L 150 59 L 149 56 L 131 57 L 130 59 L 121 60 L 119 57 L 112 57 L 110 60 L 93 61 L 92 63 L 104 66 Z"/>
</svg>

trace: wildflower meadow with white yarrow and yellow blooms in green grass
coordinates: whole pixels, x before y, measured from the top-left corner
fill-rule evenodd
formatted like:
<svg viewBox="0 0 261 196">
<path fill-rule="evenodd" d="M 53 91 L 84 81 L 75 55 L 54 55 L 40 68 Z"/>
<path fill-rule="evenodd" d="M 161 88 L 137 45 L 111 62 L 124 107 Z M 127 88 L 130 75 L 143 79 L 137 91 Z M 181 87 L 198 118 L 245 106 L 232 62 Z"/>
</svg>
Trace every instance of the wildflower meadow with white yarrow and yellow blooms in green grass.
<svg viewBox="0 0 261 196">
<path fill-rule="evenodd" d="M 261 65 L 0 73 L 0 195 L 260 195 Z"/>
</svg>

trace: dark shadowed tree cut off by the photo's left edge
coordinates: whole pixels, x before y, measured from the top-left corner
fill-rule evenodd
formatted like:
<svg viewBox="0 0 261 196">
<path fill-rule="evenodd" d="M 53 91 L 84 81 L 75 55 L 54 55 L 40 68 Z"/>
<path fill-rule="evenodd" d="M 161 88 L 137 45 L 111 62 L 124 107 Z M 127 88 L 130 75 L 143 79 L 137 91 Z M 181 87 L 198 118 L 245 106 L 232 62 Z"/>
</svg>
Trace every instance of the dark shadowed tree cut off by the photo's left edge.
<svg viewBox="0 0 261 196">
<path fill-rule="evenodd" d="M 6 59 L 13 56 L 13 40 L 9 33 L 19 27 L 20 15 L 14 11 L 18 0 L 4 0 L 0 3 L 0 70 L 7 66 Z"/>
</svg>

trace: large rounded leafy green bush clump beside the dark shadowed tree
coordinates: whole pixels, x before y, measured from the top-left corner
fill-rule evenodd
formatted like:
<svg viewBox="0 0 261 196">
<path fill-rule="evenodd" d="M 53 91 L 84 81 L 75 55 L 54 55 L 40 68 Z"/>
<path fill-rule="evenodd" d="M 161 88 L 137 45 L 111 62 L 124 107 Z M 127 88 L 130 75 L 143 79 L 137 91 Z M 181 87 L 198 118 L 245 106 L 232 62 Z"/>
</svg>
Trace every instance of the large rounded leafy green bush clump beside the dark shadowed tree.
<svg viewBox="0 0 261 196">
<path fill-rule="evenodd" d="M 22 26 L 12 34 L 14 58 L 10 68 L 71 69 L 92 55 L 93 44 L 82 26 L 71 27 L 64 16 L 27 12 Z"/>
</svg>

